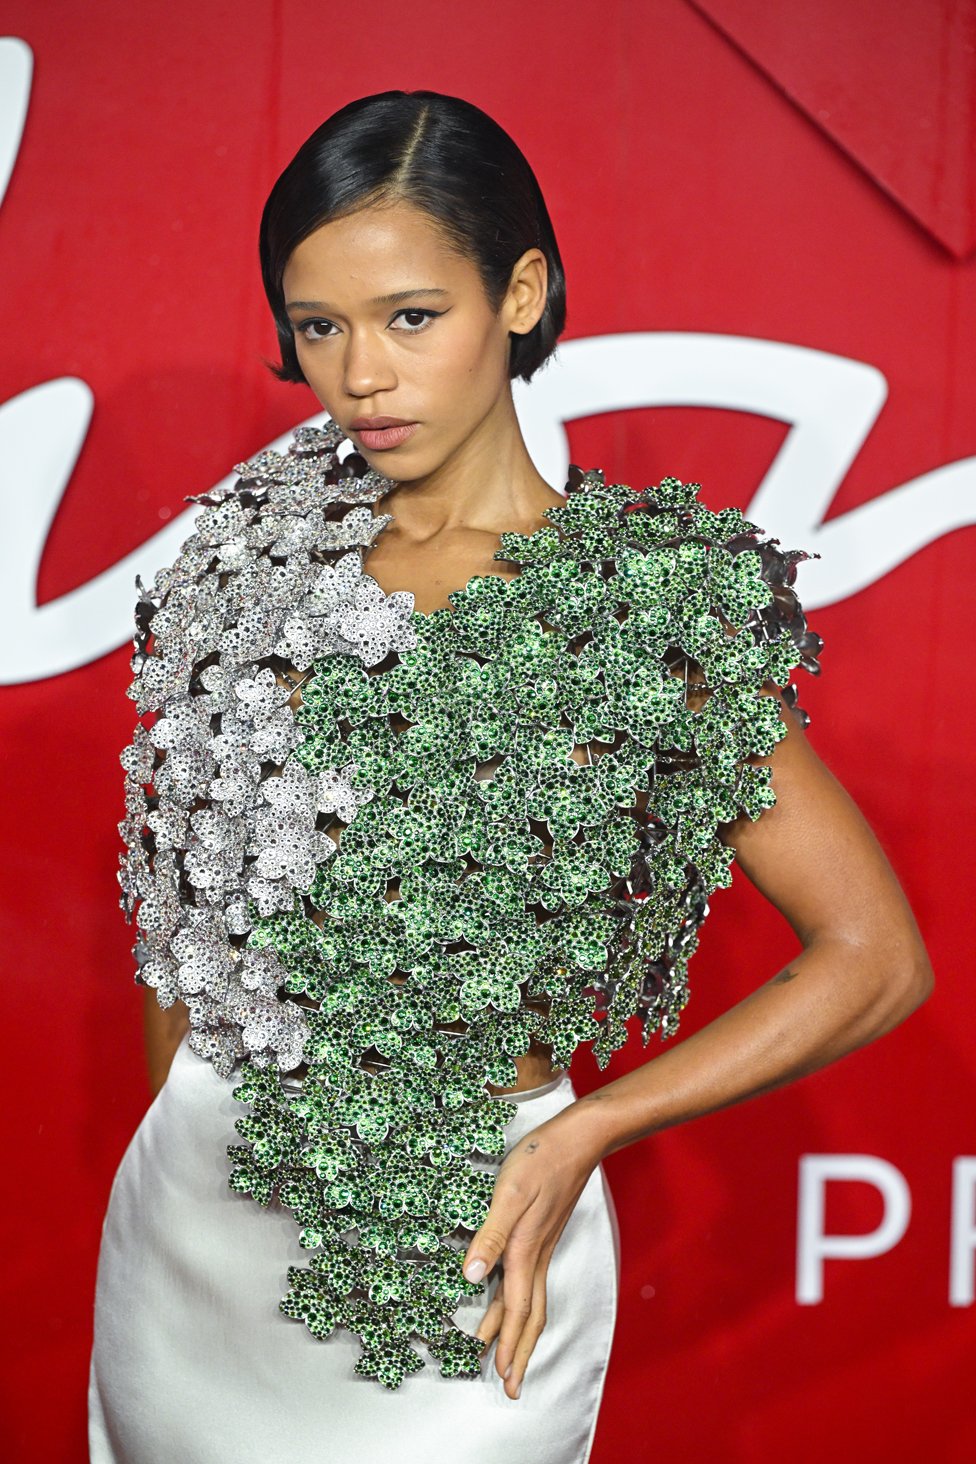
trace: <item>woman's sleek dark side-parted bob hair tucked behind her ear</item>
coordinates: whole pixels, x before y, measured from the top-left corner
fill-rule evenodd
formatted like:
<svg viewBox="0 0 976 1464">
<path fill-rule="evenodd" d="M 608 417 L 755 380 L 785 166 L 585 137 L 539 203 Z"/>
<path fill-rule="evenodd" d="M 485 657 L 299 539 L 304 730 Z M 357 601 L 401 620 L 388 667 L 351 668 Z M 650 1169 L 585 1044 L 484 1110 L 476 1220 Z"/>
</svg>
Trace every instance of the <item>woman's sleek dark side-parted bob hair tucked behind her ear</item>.
<svg viewBox="0 0 976 1464">
<path fill-rule="evenodd" d="M 299 148 L 260 217 L 260 275 L 278 331 L 279 381 L 304 382 L 282 277 L 313 230 L 372 203 L 408 202 L 477 266 L 498 310 L 527 249 L 549 265 L 546 309 L 527 335 L 509 334 L 509 378 L 530 381 L 566 324 L 566 280 L 549 211 L 519 148 L 487 113 L 459 97 L 388 91 L 334 113 Z"/>
</svg>

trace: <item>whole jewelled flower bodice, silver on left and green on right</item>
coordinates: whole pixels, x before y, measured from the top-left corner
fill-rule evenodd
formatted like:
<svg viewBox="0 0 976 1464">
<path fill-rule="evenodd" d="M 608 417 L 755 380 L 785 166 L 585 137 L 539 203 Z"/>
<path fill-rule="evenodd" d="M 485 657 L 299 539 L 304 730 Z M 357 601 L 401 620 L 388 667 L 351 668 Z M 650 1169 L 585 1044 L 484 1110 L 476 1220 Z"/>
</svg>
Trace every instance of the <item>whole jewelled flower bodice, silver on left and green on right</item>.
<svg viewBox="0 0 976 1464">
<path fill-rule="evenodd" d="M 533 1039 L 669 1037 L 718 826 L 774 802 L 765 682 L 817 672 L 783 552 L 699 485 L 571 470 L 420 615 L 369 575 L 392 486 L 334 425 L 239 464 L 140 589 L 120 883 L 138 979 L 239 1076 L 230 1183 L 290 1208 L 281 1310 L 357 1372 L 480 1372 L 451 1315 Z M 793 687 L 784 698 L 796 704 Z M 797 709 L 799 712 L 799 709 Z M 805 714 L 799 716 L 806 720 Z M 285 1076 L 293 1075 L 293 1076 Z M 465 1239 L 467 1237 L 467 1239 Z"/>
</svg>

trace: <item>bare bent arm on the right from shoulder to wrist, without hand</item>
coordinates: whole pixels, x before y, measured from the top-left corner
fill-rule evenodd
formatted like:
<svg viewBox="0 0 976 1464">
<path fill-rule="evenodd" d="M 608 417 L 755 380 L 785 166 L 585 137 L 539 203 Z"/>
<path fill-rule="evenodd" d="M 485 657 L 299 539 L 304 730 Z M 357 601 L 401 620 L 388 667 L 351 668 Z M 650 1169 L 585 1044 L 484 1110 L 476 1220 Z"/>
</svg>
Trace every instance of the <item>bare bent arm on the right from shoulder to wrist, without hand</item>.
<svg viewBox="0 0 976 1464">
<path fill-rule="evenodd" d="M 825 1067 L 890 1032 L 932 991 L 928 952 L 881 845 L 776 695 L 787 735 L 751 761 L 771 764 L 777 802 L 721 836 L 803 950 L 702 1031 L 574 1105 L 577 1132 L 600 1158 Z"/>
</svg>

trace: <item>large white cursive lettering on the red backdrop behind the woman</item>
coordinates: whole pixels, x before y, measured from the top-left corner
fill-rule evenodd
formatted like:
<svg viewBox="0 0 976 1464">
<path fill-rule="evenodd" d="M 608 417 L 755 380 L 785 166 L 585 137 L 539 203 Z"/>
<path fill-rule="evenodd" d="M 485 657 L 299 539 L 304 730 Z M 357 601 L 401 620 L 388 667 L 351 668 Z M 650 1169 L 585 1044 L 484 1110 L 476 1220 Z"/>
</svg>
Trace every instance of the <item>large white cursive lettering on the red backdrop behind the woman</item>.
<svg viewBox="0 0 976 1464">
<path fill-rule="evenodd" d="M 13 170 L 31 86 L 31 53 L 0 40 L 0 198 Z M 825 523 L 830 505 L 887 397 L 874 366 L 740 335 L 622 332 L 560 344 L 544 370 L 515 382 L 519 423 L 538 471 L 566 480 L 566 423 L 644 407 L 720 407 L 790 430 L 746 514 L 784 548 L 821 553 L 797 569 L 805 608 L 834 605 L 932 540 L 976 523 L 976 457 L 947 463 Z M 186 509 L 139 549 L 47 605 L 37 578 L 51 521 L 94 410 L 78 378 L 42 382 L 0 406 L 0 684 L 85 666 L 132 638 L 135 578 L 152 581 L 190 533 Z M 309 423 L 319 425 L 316 413 Z M 284 451 L 291 432 L 269 447 Z M 253 455 L 252 448 L 247 454 Z M 694 479 L 694 464 L 676 466 Z M 233 482 L 228 474 L 224 482 Z M 635 486 L 644 486 L 635 485 Z M 187 493 L 208 485 L 187 485 Z M 720 507 L 710 501 L 710 507 Z"/>
</svg>

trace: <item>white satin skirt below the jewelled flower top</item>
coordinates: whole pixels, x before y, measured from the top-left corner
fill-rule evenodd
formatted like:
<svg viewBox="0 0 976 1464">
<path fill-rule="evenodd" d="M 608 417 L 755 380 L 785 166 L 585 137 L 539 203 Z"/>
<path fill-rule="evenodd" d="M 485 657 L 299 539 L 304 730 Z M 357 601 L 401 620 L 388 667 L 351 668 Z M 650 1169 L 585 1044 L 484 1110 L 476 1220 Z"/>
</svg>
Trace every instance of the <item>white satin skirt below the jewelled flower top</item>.
<svg viewBox="0 0 976 1464">
<path fill-rule="evenodd" d="M 521 1397 L 505 1394 L 495 1342 L 467 1379 L 442 1378 L 417 1341 L 426 1366 L 389 1391 L 354 1372 L 357 1337 L 318 1341 L 278 1312 L 288 1266 L 309 1253 L 290 1211 L 228 1187 L 244 1113 L 233 1086 L 184 1038 L 116 1174 L 95 1290 L 92 1464 L 585 1464 L 620 1275 L 603 1167 L 553 1250 Z M 575 1098 L 568 1073 L 517 1094 L 505 1152 Z M 464 1331 L 498 1280 L 496 1266 L 486 1294 L 462 1299 Z"/>
</svg>

